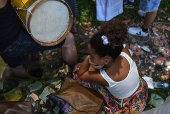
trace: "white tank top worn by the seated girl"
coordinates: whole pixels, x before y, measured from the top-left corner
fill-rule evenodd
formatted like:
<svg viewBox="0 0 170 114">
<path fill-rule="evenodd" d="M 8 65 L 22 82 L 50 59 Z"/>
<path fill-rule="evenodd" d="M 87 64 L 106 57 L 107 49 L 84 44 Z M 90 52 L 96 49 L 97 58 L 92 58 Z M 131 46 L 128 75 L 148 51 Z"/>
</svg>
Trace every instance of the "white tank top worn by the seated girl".
<svg viewBox="0 0 170 114">
<path fill-rule="evenodd" d="M 125 57 L 130 64 L 129 73 L 124 80 L 113 81 L 104 69 L 100 70 L 100 74 L 109 83 L 109 86 L 106 86 L 109 92 L 118 99 L 124 99 L 130 97 L 138 89 L 140 81 L 136 63 L 125 52 L 121 52 L 120 55 Z"/>
</svg>

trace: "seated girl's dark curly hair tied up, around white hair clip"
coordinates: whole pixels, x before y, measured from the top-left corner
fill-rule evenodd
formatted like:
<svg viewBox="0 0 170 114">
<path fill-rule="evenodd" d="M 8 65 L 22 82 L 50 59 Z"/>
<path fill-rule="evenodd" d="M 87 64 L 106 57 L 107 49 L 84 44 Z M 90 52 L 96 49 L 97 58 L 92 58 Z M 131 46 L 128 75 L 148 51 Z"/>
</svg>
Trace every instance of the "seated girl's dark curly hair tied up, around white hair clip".
<svg viewBox="0 0 170 114">
<path fill-rule="evenodd" d="M 101 39 L 103 35 L 107 36 L 109 44 L 103 44 Z M 114 60 L 120 55 L 126 38 L 126 24 L 121 21 L 109 21 L 103 24 L 101 30 L 91 38 L 90 44 L 100 57 L 110 56 Z"/>
</svg>

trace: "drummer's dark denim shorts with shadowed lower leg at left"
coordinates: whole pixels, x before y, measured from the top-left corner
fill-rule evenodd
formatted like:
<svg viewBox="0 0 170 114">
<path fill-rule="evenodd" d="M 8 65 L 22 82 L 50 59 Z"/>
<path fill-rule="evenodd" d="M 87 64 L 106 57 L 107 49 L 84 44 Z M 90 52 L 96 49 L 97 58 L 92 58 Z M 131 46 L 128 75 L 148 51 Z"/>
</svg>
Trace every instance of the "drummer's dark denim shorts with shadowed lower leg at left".
<svg viewBox="0 0 170 114">
<path fill-rule="evenodd" d="M 22 66 L 24 64 L 24 55 L 59 48 L 63 44 L 64 41 L 55 46 L 41 46 L 31 38 L 26 30 L 22 29 L 19 38 L 5 49 L 1 53 L 1 56 L 16 76 L 20 78 L 32 78 Z"/>
</svg>

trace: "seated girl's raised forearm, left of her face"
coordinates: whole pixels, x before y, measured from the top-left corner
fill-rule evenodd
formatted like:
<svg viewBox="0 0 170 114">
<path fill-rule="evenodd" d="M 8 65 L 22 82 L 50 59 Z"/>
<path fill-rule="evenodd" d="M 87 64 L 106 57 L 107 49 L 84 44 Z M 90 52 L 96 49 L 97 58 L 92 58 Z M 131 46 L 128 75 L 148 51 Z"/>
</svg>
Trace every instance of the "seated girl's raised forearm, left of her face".
<svg viewBox="0 0 170 114">
<path fill-rule="evenodd" d="M 90 67 L 89 56 L 87 56 L 80 66 L 80 69 L 78 71 L 78 77 L 81 77 L 85 72 L 87 72 L 89 70 L 89 67 Z"/>
</svg>

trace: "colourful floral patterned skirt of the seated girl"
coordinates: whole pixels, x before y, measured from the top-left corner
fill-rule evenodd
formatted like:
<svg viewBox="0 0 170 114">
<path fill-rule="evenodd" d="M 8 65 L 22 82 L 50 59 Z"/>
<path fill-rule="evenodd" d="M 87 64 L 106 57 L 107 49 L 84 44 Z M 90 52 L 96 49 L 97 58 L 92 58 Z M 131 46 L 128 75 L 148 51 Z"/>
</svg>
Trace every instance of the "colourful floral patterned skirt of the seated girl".
<svg viewBox="0 0 170 114">
<path fill-rule="evenodd" d="M 140 78 L 140 85 L 136 92 L 130 97 L 125 99 L 117 99 L 107 90 L 107 88 L 101 84 L 89 83 L 81 81 L 77 77 L 77 71 L 79 70 L 81 63 L 78 63 L 73 70 L 74 79 L 79 82 L 83 87 L 91 88 L 100 93 L 106 105 L 104 110 L 107 114 L 136 114 L 144 110 L 148 98 L 148 87 L 147 83 Z"/>
</svg>

